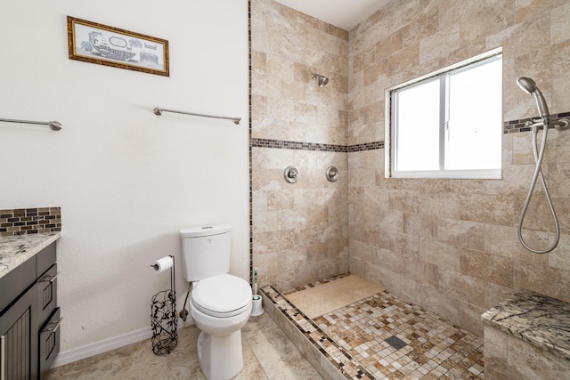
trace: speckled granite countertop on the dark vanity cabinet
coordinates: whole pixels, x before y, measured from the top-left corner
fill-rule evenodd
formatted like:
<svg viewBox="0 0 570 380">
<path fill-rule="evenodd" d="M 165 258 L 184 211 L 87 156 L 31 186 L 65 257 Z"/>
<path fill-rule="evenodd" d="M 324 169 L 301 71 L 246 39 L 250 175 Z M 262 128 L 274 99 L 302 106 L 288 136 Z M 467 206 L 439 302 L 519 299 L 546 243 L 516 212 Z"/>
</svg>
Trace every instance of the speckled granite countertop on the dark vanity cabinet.
<svg viewBox="0 0 570 380">
<path fill-rule="evenodd" d="M 61 238 L 61 232 L 0 237 L 0 278 Z"/>
</svg>

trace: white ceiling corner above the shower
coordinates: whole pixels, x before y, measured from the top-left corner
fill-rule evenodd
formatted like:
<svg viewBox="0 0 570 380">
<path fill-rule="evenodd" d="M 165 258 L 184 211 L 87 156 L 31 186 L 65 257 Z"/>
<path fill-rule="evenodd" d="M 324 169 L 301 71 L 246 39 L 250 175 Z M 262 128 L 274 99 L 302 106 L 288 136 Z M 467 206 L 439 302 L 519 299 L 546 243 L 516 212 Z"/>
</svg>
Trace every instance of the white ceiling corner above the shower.
<svg viewBox="0 0 570 380">
<path fill-rule="evenodd" d="M 351 30 L 389 0 L 275 0 L 299 12 Z"/>
</svg>

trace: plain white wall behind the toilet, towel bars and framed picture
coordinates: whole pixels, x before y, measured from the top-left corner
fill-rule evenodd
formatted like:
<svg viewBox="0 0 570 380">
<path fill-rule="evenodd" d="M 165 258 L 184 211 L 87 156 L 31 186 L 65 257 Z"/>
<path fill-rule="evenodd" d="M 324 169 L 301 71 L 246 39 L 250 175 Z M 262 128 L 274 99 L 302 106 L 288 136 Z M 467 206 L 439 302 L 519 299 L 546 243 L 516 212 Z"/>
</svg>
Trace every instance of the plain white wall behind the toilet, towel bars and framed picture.
<svg viewBox="0 0 570 380">
<path fill-rule="evenodd" d="M 70 61 L 67 15 L 167 39 L 170 77 Z M 246 0 L 4 1 L 0 46 L 0 117 L 63 125 L 0 123 L 0 209 L 61 206 L 62 352 L 150 327 L 164 255 L 180 310 L 180 228 L 231 223 L 248 279 Z"/>
</svg>

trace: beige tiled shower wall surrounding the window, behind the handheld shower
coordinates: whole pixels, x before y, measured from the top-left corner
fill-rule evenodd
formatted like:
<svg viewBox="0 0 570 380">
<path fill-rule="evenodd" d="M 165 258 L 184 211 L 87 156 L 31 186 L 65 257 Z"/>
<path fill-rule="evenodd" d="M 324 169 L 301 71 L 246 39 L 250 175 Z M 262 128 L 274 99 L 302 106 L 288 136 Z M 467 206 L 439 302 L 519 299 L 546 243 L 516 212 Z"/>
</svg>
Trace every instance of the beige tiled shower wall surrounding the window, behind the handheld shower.
<svg viewBox="0 0 570 380">
<path fill-rule="evenodd" d="M 348 142 L 384 140 L 387 87 L 498 46 L 504 120 L 537 114 L 517 77 L 536 80 L 551 112 L 570 110 L 568 17 L 565 0 L 387 4 L 350 32 Z M 570 301 L 569 144 L 570 132 L 549 133 L 542 171 L 562 230 L 549 255 L 517 240 L 534 170 L 530 133 L 503 135 L 502 180 L 386 179 L 384 150 L 349 153 L 350 271 L 479 335 L 480 314 L 515 289 Z M 535 199 L 524 235 L 546 247 L 553 224 Z"/>
</svg>

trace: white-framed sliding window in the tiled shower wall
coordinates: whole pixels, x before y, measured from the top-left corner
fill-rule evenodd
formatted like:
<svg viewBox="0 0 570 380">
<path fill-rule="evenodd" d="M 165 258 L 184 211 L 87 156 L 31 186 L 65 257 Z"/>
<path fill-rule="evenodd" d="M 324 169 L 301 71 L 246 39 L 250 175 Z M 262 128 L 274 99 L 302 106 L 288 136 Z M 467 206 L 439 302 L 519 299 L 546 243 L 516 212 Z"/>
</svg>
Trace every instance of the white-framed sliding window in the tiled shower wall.
<svg viewBox="0 0 570 380">
<path fill-rule="evenodd" d="M 501 50 L 387 89 L 387 177 L 501 178 Z"/>
</svg>

